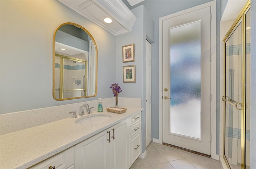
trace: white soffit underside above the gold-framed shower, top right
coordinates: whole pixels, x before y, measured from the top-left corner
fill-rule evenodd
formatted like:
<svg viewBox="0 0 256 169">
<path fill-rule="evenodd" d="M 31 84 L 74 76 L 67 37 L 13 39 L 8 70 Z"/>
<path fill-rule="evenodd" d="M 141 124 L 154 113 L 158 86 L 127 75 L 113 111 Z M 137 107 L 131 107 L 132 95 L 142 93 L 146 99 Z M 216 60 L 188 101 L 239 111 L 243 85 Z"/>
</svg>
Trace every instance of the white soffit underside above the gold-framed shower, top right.
<svg viewBox="0 0 256 169">
<path fill-rule="evenodd" d="M 247 0 L 228 0 L 221 21 L 237 18 Z"/>
</svg>

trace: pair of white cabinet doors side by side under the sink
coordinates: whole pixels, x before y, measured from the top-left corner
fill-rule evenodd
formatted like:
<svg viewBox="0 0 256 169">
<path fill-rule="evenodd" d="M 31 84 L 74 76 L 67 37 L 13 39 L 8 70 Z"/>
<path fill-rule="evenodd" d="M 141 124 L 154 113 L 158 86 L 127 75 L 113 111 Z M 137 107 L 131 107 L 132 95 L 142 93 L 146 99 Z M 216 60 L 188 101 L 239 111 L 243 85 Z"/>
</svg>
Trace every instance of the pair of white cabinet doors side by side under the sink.
<svg viewBox="0 0 256 169">
<path fill-rule="evenodd" d="M 75 145 L 75 169 L 126 169 L 128 127 L 127 119 Z"/>
</svg>

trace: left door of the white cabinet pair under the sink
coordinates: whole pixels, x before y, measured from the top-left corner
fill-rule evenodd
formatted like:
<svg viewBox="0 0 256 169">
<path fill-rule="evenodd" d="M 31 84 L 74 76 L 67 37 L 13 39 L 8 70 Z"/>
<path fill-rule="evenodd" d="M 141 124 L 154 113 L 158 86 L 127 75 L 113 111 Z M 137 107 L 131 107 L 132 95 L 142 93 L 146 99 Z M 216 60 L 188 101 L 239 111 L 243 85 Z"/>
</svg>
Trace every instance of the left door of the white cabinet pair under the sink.
<svg viewBox="0 0 256 169">
<path fill-rule="evenodd" d="M 87 140 L 75 145 L 76 169 L 110 168 L 109 130 L 104 130 Z"/>
</svg>

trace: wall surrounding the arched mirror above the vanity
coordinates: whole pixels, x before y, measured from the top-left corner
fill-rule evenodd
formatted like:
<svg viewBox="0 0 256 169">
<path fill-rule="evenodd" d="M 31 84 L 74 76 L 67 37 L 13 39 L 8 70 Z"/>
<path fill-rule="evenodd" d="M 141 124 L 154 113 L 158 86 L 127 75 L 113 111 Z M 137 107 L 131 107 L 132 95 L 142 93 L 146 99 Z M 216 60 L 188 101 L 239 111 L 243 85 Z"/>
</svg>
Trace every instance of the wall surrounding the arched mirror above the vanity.
<svg viewBox="0 0 256 169">
<path fill-rule="evenodd" d="M 0 0 L 0 114 L 112 97 L 116 37 L 57 0 Z M 86 28 L 98 47 L 98 94 L 56 101 L 52 97 L 53 35 L 65 22 Z M 125 95 L 123 95 L 125 96 Z"/>
</svg>

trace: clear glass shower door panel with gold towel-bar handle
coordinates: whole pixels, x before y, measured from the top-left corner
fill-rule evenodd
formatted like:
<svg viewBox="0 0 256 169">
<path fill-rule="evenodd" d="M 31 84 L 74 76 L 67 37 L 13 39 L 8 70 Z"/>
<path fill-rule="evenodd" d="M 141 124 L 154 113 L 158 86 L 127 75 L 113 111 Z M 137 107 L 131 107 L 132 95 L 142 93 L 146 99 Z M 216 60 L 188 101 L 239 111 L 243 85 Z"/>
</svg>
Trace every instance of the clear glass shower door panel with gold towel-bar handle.
<svg viewBox="0 0 256 169">
<path fill-rule="evenodd" d="M 230 167 L 241 166 L 242 23 L 226 41 L 225 156 Z"/>
</svg>

